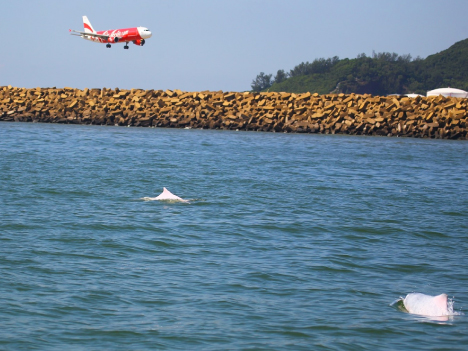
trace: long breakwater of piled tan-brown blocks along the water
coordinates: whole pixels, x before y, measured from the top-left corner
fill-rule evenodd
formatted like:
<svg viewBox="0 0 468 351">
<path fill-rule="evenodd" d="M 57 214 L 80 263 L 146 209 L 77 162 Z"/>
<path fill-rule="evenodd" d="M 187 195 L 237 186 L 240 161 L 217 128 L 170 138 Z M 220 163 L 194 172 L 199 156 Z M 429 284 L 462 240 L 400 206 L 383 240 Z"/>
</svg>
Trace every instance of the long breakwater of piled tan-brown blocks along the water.
<svg viewBox="0 0 468 351">
<path fill-rule="evenodd" d="M 468 99 L 0 87 L 0 120 L 468 139 Z"/>
</svg>

